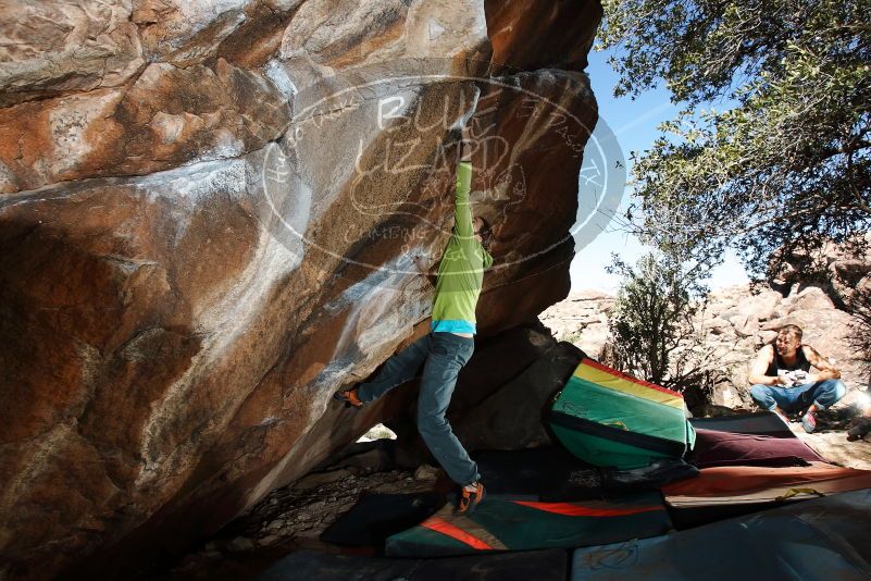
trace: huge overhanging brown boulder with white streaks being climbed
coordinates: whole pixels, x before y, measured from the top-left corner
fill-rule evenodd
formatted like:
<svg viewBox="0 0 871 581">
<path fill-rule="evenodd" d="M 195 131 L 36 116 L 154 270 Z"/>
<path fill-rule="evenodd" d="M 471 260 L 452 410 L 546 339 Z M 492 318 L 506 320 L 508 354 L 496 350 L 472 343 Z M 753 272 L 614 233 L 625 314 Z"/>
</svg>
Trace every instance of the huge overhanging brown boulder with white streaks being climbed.
<svg viewBox="0 0 871 581">
<path fill-rule="evenodd" d="M 112 574 L 145 546 L 184 547 L 408 415 L 397 396 L 348 421 L 329 397 L 428 324 L 411 256 L 435 261 L 451 227 L 458 120 L 473 114 L 473 203 L 495 225 L 482 336 L 568 292 L 596 108 L 586 77 L 559 66 L 581 62 L 598 4 L 0 11 L 13 577 Z"/>
</svg>

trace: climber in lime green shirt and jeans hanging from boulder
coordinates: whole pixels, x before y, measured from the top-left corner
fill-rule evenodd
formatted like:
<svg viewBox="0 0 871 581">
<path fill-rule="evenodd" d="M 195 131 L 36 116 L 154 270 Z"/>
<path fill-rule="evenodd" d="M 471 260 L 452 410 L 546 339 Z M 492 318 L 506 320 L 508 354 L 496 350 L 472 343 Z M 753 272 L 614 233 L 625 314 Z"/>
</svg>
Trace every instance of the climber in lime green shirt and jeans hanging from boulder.
<svg viewBox="0 0 871 581">
<path fill-rule="evenodd" d="M 477 465 L 453 434 L 445 413 L 457 375 L 474 350 L 475 306 L 484 270 L 493 264 L 493 257 L 486 250 L 489 224 L 480 217 L 472 219 L 472 141 L 465 121 L 461 123 L 453 231 L 438 264 L 431 331 L 388 359 L 372 381 L 337 392 L 334 397 L 360 408 L 414 378 L 423 364 L 418 430 L 448 477 L 461 487 L 457 512 L 468 514 L 484 499 L 484 485 Z M 415 263 L 426 271 L 420 258 Z"/>
</svg>

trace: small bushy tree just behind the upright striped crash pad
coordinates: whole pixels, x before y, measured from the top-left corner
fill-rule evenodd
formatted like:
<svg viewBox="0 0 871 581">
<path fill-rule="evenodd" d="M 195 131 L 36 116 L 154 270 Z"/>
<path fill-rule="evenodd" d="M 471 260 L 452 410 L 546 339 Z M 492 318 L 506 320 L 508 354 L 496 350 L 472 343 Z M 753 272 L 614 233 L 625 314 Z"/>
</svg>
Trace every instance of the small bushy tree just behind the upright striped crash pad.
<svg viewBox="0 0 871 581">
<path fill-rule="evenodd" d="M 694 317 L 704 308 L 705 271 L 662 254 L 648 254 L 635 268 L 614 257 L 611 272 L 623 275 L 610 317 L 609 363 L 652 383 L 682 390 L 704 374 L 701 334 Z"/>
</svg>

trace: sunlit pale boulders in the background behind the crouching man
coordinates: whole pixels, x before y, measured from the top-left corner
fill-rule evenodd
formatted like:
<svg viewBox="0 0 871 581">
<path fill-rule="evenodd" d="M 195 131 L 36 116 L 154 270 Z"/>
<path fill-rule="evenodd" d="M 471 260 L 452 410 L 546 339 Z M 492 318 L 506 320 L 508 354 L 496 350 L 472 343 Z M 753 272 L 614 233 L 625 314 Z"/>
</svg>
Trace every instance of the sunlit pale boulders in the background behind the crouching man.
<svg viewBox="0 0 871 581">
<path fill-rule="evenodd" d="M 607 329 L 613 298 L 593 292 L 572 292 L 567 299 L 540 314 L 557 337 L 570 341 L 590 355 L 607 343 Z M 605 323 L 602 323 L 605 321 Z M 708 307 L 699 313 L 698 329 L 712 347 L 708 363 L 725 373 L 709 404 L 730 408 L 754 408 L 747 383 L 748 367 L 762 345 L 772 342 L 777 330 L 797 324 L 805 343 L 833 360 L 848 387 L 864 387 L 867 372 L 850 347 L 851 317 L 837 309 L 825 290 L 796 285 L 787 296 L 772 289 L 751 293 L 748 286 L 722 288 L 711 294 Z"/>
</svg>

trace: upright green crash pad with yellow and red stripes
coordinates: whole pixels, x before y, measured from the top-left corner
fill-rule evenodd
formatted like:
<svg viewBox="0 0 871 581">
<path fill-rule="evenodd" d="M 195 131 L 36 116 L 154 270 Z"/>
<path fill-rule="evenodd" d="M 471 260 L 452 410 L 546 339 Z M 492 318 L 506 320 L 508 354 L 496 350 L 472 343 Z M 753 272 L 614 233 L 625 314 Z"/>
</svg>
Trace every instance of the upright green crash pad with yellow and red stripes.
<svg viewBox="0 0 871 581">
<path fill-rule="evenodd" d="M 584 359 L 560 392 L 549 421 L 582 460 L 633 470 L 693 447 L 681 394 Z"/>
</svg>

